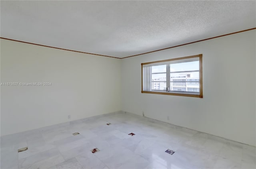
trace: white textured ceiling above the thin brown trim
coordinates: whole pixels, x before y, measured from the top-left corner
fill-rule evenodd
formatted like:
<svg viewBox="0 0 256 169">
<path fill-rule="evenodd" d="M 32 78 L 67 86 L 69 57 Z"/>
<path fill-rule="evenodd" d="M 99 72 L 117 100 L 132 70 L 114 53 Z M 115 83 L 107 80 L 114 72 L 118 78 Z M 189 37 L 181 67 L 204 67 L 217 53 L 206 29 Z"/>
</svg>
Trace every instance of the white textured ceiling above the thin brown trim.
<svg viewBox="0 0 256 169">
<path fill-rule="evenodd" d="M 256 1 L 0 1 L 1 37 L 127 57 L 256 27 Z"/>
</svg>

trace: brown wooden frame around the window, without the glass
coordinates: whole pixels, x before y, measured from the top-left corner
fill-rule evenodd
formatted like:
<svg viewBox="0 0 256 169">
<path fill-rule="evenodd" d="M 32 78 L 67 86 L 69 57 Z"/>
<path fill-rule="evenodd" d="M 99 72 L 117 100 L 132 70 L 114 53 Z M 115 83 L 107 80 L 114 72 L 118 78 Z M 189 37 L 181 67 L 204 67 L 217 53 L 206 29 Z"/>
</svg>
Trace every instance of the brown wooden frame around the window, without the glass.
<svg viewBox="0 0 256 169">
<path fill-rule="evenodd" d="M 166 60 L 161 60 L 161 61 L 153 61 L 153 62 L 147 62 L 147 63 L 141 63 L 141 92 L 142 93 L 150 93 L 150 94 L 165 94 L 165 95 L 174 95 L 174 96 L 188 96 L 188 97 L 198 97 L 198 98 L 203 98 L 203 67 L 202 67 L 202 54 L 199 55 L 192 55 L 192 56 L 186 56 L 186 57 L 178 57 L 174 59 L 166 59 Z M 199 57 L 199 94 L 195 93 L 193 94 L 192 92 L 186 93 L 186 92 L 165 92 L 165 91 L 146 91 L 143 90 L 143 65 L 148 65 L 152 63 L 161 63 L 161 62 L 168 62 L 168 61 L 176 61 L 176 60 L 182 60 L 182 59 L 190 59 L 190 58 L 195 58 Z M 163 64 L 165 65 L 165 64 Z M 166 70 L 166 76 L 168 74 L 168 71 Z M 170 73 L 169 73 L 170 74 Z M 168 80 L 169 81 L 169 80 Z M 168 83 L 167 77 L 166 77 L 166 84 Z"/>
</svg>

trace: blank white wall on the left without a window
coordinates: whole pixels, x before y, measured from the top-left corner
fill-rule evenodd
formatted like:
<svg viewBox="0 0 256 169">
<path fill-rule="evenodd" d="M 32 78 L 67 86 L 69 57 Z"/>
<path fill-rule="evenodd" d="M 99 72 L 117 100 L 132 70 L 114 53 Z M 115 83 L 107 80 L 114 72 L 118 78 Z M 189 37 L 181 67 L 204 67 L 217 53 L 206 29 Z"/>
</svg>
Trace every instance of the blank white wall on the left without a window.
<svg viewBox="0 0 256 169">
<path fill-rule="evenodd" d="M 121 59 L 1 39 L 1 136 L 121 110 Z M 71 115 L 71 119 L 68 119 Z"/>
</svg>

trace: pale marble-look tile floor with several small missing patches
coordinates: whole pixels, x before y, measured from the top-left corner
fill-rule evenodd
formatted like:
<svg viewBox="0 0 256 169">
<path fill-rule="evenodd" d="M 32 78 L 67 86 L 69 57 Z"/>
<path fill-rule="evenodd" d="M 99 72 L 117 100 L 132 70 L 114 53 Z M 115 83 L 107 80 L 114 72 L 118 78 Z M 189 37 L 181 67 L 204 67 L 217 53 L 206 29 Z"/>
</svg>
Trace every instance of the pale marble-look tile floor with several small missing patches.
<svg viewBox="0 0 256 169">
<path fill-rule="evenodd" d="M 0 151 L 1 169 L 256 168 L 255 147 L 130 113 L 3 136 Z"/>
</svg>

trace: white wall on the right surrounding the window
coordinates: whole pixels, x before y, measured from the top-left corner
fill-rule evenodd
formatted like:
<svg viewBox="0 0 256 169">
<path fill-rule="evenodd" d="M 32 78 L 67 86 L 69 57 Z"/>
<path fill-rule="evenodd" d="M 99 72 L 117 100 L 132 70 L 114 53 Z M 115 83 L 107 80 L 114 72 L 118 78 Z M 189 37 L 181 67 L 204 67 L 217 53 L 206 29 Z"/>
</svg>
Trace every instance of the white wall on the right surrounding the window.
<svg viewBox="0 0 256 169">
<path fill-rule="evenodd" d="M 122 110 L 255 146 L 255 37 L 251 30 L 122 59 Z M 141 63 L 201 53 L 204 98 L 141 93 Z"/>
</svg>

